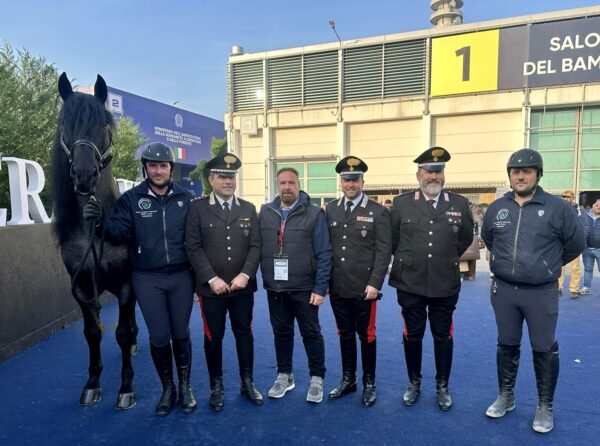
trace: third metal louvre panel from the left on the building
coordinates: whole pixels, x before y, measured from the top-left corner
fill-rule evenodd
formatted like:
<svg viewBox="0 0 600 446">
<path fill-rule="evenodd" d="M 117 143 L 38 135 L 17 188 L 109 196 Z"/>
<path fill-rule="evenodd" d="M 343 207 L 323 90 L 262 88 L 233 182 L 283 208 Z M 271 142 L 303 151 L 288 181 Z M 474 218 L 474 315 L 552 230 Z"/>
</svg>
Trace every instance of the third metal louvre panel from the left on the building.
<svg viewBox="0 0 600 446">
<path fill-rule="evenodd" d="M 337 102 L 338 52 L 304 56 L 304 105 Z"/>
</svg>

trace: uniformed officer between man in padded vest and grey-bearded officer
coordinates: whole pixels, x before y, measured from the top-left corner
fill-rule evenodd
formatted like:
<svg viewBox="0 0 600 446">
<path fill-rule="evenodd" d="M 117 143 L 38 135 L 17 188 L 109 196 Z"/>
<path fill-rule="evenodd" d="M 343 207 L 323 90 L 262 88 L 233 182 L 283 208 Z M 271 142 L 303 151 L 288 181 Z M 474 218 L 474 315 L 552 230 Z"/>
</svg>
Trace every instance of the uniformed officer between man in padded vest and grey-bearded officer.
<svg viewBox="0 0 600 446">
<path fill-rule="evenodd" d="M 377 299 L 391 257 L 392 233 L 388 210 L 363 193 L 367 164 L 355 156 L 342 159 L 340 174 L 344 196 L 327 205 L 327 224 L 333 247 L 329 282 L 331 307 L 340 337 L 342 380 L 329 392 L 336 399 L 356 391 L 356 334 L 362 358 L 362 401 L 375 404 Z"/>
</svg>

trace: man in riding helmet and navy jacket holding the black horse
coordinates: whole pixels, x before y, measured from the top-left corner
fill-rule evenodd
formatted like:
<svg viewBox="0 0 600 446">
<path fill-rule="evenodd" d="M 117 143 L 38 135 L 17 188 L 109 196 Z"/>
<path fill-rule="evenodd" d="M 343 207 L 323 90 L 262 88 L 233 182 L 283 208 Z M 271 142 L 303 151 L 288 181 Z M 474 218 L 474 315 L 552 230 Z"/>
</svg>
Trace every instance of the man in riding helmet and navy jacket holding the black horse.
<svg viewBox="0 0 600 446">
<path fill-rule="evenodd" d="M 179 376 L 179 404 L 185 413 L 196 408 L 190 384 L 192 348 L 189 321 L 193 277 L 185 252 L 185 221 L 192 194 L 173 183 L 173 150 L 148 144 L 141 156 L 144 182 L 125 192 L 115 213 L 105 222 L 109 240 L 129 244 L 132 286 L 150 334 L 152 359 L 163 391 L 156 415 L 171 413 L 177 400 L 173 356 Z M 84 216 L 98 218 L 95 200 Z M 172 347 L 171 347 L 172 345 Z"/>
</svg>

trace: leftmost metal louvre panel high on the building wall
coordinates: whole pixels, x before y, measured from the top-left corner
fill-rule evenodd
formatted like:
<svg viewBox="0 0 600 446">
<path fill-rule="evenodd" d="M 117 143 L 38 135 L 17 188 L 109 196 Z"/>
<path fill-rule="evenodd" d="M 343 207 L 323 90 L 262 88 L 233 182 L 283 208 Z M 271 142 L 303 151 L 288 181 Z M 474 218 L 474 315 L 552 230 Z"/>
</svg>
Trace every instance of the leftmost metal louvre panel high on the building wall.
<svg viewBox="0 0 600 446">
<path fill-rule="evenodd" d="M 263 61 L 243 62 L 231 65 L 233 110 L 263 108 Z"/>
</svg>

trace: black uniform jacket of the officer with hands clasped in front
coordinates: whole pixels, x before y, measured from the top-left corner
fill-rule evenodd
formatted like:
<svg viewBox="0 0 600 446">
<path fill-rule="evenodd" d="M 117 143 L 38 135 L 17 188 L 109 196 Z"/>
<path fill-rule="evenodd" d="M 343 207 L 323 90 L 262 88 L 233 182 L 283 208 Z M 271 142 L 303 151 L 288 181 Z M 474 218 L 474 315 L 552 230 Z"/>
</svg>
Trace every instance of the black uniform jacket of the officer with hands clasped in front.
<svg viewBox="0 0 600 446">
<path fill-rule="evenodd" d="M 234 197 L 227 220 L 214 193 L 192 201 L 185 227 L 185 243 L 199 295 L 215 297 L 208 281 L 218 276 L 231 283 L 239 273 L 250 278 L 248 286 L 228 296 L 256 291 L 261 243 L 256 208 L 252 203 Z"/>
</svg>

